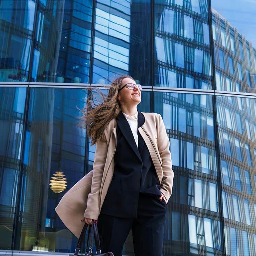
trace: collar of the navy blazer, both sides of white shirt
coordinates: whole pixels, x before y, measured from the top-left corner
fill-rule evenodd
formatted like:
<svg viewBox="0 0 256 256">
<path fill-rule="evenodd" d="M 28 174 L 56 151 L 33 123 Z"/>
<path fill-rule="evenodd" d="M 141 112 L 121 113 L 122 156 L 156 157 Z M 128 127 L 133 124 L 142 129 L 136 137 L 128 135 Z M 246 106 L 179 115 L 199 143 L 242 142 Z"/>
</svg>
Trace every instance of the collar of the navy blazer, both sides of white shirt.
<svg viewBox="0 0 256 256">
<path fill-rule="evenodd" d="M 137 110 L 137 111 L 138 111 L 138 128 L 139 128 L 144 124 L 145 117 L 139 110 Z M 142 163 L 142 159 L 141 159 L 139 150 L 137 148 L 137 145 L 135 143 L 132 130 L 130 129 L 129 123 L 122 112 L 120 112 L 120 114 L 116 117 L 116 122 L 117 122 L 117 125 L 120 128 L 123 136 L 125 137 L 125 139 L 129 143 L 130 147 L 133 149 L 134 153 L 136 154 L 136 156 L 139 158 L 139 160 Z"/>
</svg>

